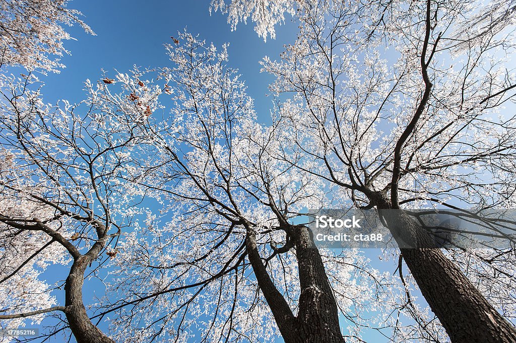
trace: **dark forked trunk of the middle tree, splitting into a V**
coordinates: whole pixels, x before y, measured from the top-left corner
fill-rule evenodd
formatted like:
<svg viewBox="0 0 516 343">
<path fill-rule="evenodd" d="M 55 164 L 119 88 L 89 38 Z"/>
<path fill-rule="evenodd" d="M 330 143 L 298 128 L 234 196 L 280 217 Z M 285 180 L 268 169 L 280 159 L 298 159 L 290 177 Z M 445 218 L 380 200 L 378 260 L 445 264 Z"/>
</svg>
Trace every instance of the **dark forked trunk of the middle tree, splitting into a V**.
<svg viewBox="0 0 516 343">
<path fill-rule="evenodd" d="M 289 231 L 294 237 L 301 288 L 297 317 L 267 273 L 256 248 L 255 235 L 249 228 L 246 242 L 256 280 L 281 335 L 285 343 L 344 343 L 333 290 L 310 232 L 304 226 Z"/>
</svg>

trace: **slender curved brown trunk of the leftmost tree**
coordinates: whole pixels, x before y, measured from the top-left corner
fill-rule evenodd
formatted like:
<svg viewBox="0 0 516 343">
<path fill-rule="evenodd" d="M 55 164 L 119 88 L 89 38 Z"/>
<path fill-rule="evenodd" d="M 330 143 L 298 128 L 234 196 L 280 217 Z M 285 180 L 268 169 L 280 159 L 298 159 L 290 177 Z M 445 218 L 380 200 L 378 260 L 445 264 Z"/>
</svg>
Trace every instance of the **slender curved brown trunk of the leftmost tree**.
<svg viewBox="0 0 516 343">
<path fill-rule="evenodd" d="M 66 317 L 77 343 L 115 343 L 91 322 L 83 302 L 84 272 L 105 245 L 105 238 L 93 244 L 84 256 L 76 258 L 65 284 Z"/>
</svg>

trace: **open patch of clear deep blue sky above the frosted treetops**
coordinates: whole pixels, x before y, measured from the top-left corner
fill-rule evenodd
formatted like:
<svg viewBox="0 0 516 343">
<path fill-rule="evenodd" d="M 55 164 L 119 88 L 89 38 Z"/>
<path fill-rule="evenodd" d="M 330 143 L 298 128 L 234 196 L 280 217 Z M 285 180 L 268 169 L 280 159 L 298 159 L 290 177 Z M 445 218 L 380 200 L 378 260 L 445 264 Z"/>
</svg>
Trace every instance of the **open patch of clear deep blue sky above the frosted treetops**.
<svg viewBox="0 0 516 343">
<path fill-rule="evenodd" d="M 248 93 L 255 99 L 261 121 L 269 119 L 271 99 L 266 97 L 272 77 L 260 73 L 259 61 L 265 56 L 276 59 L 283 44 L 293 43 L 297 26 L 287 18 L 286 25 L 277 29 L 276 40 L 264 42 L 254 32 L 253 23 L 239 24 L 231 31 L 227 17 L 220 12 L 209 13 L 209 1 L 136 1 L 88 0 L 72 1 L 71 8 L 83 12 L 84 21 L 95 31 L 87 35 L 80 27 L 68 29 L 76 41 L 65 42 L 72 55 L 62 58 L 67 68 L 60 74 L 45 77 L 46 102 L 58 99 L 78 102 L 84 98 L 83 82 L 99 79 L 102 69 L 113 75 L 138 67 L 162 67 L 168 64 L 164 43 L 172 43 L 185 28 L 207 42 L 220 47 L 230 42 L 229 65 L 236 68 L 246 80 Z"/>
</svg>

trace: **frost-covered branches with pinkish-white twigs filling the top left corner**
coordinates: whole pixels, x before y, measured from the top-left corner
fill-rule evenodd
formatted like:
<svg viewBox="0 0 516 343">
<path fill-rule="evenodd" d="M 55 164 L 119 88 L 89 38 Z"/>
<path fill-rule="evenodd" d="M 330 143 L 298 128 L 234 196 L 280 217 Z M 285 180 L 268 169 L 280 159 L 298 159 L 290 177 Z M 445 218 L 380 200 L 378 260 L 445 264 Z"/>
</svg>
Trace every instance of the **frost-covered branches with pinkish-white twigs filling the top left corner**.
<svg viewBox="0 0 516 343">
<path fill-rule="evenodd" d="M 68 0 L 2 0 L 0 2 L 0 66 L 22 66 L 28 70 L 58 72 L 58 58 L 69 54 L 63 40 L 71 39 L 62 25 L 79 24 L 94 35 L 67 7 Z"/>
</svg>

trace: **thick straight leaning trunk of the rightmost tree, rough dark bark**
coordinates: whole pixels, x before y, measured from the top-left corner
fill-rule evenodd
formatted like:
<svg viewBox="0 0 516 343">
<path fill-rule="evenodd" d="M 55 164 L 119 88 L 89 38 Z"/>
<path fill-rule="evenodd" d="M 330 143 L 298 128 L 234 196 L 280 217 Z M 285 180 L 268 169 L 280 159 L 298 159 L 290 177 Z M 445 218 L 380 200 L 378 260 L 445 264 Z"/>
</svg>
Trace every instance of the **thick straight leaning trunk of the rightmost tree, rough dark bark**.
<svg viewBox="0 0 516 343">
<path fill-rule="evenodd" d="M 391 209 L 388 200 L 371 197 L 382 214 Z M 383 211 L 393 237 L 412 239 L 418 249 L 400 249 L 405 263 L 432 311 L 454 343 L 514 343 L 516 330 L 482 296 L 461 270 L 440 249 L 431 249 L 430 235 L 408 215 Z M 400 230 L 401 228 L 401 230 Z"/>
</svg>

